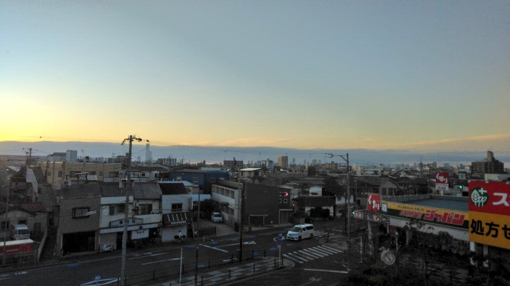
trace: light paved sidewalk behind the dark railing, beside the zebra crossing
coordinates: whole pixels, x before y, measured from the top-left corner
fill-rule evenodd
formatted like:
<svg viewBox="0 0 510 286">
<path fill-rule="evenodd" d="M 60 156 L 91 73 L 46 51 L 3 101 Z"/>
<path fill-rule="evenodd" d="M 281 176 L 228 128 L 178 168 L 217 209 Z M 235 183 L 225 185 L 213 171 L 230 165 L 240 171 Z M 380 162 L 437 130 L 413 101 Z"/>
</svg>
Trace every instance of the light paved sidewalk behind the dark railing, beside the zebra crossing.
<svg viewBox="0 0 510 286">
<path fill-rule="evenodd" d="M 198 273 L 197 276 L 197 284 L 198 285 L 223 285 L 230 281 L 244 279 L 256 276 L 257 274 L 263 274 L 270 271 L 275 271 L 279 269 L 283 269 L 286 267 L 293 267 L 294 263 L 283 259 L 279 261 L 278 258 L 268 257 L 265 259 L 250 261 L 249 263 L 245 263 L 242 265 L 219 269 L 216 271 L 202 271 Z M 189 286 L 195 285 L 195 276 L 189 275 L 187 273 L 186 276 L 181 278 L 181 284 L 179 284 L 179 277 L 167 282 L 161 282 L 157 284 L 150 284 L 152 286 L 173 286 L 173 285 L 181 285 L 181 286 Z M 149 284 L 147 284 L 149 285 Z"/>
</svg>

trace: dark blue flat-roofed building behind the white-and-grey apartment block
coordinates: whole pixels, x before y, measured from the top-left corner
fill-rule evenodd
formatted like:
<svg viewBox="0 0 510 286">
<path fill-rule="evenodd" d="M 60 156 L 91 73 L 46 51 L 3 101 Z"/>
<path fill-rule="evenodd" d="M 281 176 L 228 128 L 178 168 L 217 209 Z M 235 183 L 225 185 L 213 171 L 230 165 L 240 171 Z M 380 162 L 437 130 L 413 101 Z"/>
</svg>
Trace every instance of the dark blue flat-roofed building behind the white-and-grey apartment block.
<svg viewBox="0 0 510 286">
<path fill-rule="evenodd" d="M 170 171 L 170 180 L 172 181 L 188 181 L 198 184 L 202 193 L 211 193 L 212 184 L 220 179 L 228 180 L 227 171 L 209 171 L 209 170 L 175 170 Z"/>
</svg>

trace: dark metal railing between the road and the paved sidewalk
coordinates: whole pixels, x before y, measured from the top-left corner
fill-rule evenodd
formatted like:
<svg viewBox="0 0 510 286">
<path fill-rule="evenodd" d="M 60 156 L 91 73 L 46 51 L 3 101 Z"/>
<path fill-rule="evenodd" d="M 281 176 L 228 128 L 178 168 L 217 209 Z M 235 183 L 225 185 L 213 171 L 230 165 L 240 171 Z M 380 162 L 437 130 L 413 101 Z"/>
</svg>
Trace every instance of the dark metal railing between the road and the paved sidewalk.
<svg viewBox="0 0 510 286">
<path fill-rule="evenodd" d="M 263 251 L 250 251 L 245 252 L 242 255 L 242 261 L 249 261 L 253 260 L 255 258 L 266 258 L 266 250 Z M 151 280 L 157 280 L 162 278 L 179 278 L 180 273 L 182 275 L 189 274 L 189 273 L 195 273 L 196 268 L 198 266 L 198 271 L 200 270 L 206 270 L 211 269 L 217 266 L 221 265 L 227 265 L 227 264 L 234 264 L 239 262 L 239 255 L 225 255 L 220 258 L 213 258 L 213 259 L 207 259 L 207 260 L 199 260 L 198 264 L 196 262 L 192 263 L 183 263 L 182 265 L 182 272 L 181 266 L 177 265 L 174 267 L 165 267 L 161 269 L 155 269 L 148 272 L 141 272 L 137 274 L 131 274 L 126 277 L 126 285 L 133 285 L 141 282 L 151 281 Z M 273 262 L 277 267 L 282 268 L 282 262 Z"/>
</svg>

